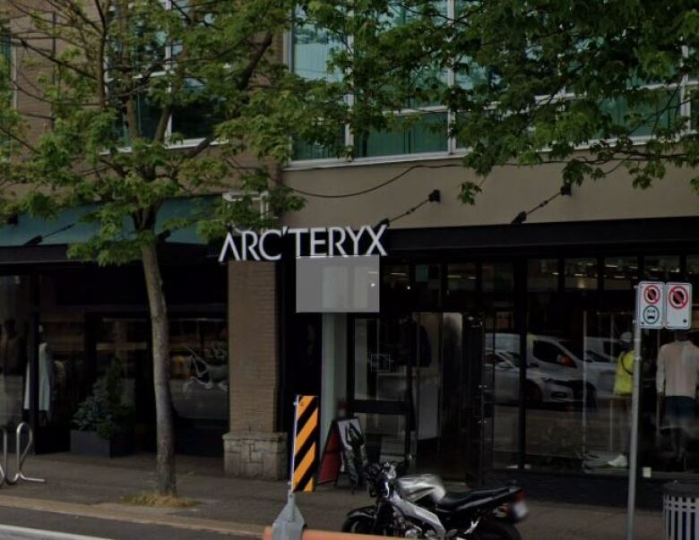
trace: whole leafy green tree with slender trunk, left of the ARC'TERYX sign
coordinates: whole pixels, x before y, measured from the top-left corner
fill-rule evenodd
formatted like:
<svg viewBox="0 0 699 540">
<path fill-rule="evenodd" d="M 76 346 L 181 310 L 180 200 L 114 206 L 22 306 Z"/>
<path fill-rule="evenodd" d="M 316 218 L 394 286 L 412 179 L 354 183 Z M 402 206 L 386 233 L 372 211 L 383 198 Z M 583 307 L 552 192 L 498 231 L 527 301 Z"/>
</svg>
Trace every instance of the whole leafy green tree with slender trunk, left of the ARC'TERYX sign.
<svg viewBox="0 0 699 540">
<path fill-rule="evenodd" d="M 82 208 L 82 219 L 96 224 L 97 233 L 71 246 L 71 256 L 100 265 L 142 262 L 158 489 L 176 493 L 159 243 L 193 225 L 205 237 L 224 233 L 230 223 L 269 226 L 282 211 L 298 208 L 302 201 L 280 185 L 279 164 L 290 157 L 290 137 L 324 140 L 318 118 L 338 114 L 341 89 L 303 81 L 280 62 L 290 1 L 4 4 L 5 31 L 20 61 L 20 74 L 0 86 L 0 133 L 10 141 L 0 159 L 4 211 L 50 217 Z M 44 110 L 17 110 L 15 93 Z M 182 144 L 182 118 L 196 132 L 193 144 Z M 156 229 L 169 198 L 228 190 L 240 193 L 237 201 L 203 205 L 190 218 Z M 255 206 L 259 196 L 268 202 L 267 214 Z"/>
</svg>

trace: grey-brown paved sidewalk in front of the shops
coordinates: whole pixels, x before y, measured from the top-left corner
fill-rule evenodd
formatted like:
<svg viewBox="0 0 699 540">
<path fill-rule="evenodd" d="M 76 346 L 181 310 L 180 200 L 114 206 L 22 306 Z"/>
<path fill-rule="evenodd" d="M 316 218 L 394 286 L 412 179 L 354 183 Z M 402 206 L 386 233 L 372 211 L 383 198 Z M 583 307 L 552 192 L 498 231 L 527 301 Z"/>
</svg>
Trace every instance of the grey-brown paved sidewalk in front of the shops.
<svg viewBox="0 0 699 540">
<path fill-rule="evenodd" d="M 25 474 L 46 478 L 47 484 L 4 486 L 0 506 L 259 536 L 283 507 L 286 484 L 228 478 L 221 467 L 220 459 L 179 456 L 179 493 L 200 504 L 189 509 L 153 509 L 119 503 L 125 495 L 152 489 L 155 459 L 150 454 L 119 459 L 31 456 Z M 366 493 L 352 495 L 343 487 L 320 486 L 315 493 L 298 494 L 298 506 L 308 526 L 326 530 L 339 530 L 348 510 L 371 502 Z M 530 501 L 530 506 L 530 517 L 519 527 L 525 539 L 611 540 L 623 537 L 626 530 L 623 509 L 542 501 Z M 659 539 L 660 512 L 639 511 L 635 537 Z"/>
</svg>

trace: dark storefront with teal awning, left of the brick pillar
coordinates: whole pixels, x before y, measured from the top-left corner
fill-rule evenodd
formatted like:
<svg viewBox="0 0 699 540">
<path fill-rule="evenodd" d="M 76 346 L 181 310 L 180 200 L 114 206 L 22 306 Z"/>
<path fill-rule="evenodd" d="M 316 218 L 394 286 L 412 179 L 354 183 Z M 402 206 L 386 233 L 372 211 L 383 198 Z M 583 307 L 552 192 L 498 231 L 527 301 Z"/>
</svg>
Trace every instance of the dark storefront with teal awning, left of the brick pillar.
<svg viewBox="0 0 699 540">
<path fill-rule="evenodd" d="M 47 232 L 70 219 L 42 224 L 21 217 L 0 231 L 0 425 L 12 431 L 28 421 L 38 452 L 70 450 L 76 410 L 118 361 L 134 451 L 152 451 L 151 326 L 142 267 L 68 259 L 67 244 L 80 240 L 83 226 Z M 37 232 L 45 240 L 29 242 Z M 183 235 L 173 239 L 160 252 L 177 451 L 220 455 L 229 427 L 226 271 L 207 246 Z"/>
</svg>

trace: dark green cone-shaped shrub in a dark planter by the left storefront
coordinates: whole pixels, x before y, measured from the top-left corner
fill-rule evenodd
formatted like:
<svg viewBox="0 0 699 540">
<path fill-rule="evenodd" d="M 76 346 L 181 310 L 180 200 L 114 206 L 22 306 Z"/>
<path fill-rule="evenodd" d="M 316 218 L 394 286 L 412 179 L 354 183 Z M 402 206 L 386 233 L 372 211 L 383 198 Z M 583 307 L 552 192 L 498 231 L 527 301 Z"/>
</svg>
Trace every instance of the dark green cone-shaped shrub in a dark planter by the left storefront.
<svg viewBox="0 0 699 540">
<path fill-rule="evenodd" d="M 115 359 L 78 406 L 73 416 L 77 429 L 71 431 L 73 453 L 113 458 L 134 450 L 133 409 L 122 403 L 122 368 Z"/>
</svg>

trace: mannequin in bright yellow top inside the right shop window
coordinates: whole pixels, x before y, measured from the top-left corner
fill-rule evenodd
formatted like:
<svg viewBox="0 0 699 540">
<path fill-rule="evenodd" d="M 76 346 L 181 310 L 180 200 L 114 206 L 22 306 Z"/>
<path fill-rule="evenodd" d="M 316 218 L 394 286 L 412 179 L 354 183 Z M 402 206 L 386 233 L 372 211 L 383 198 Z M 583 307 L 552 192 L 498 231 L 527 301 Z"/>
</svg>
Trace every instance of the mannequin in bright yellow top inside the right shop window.
<svg viewBox="0 0 699 540">
<path fill-rule="evenodd" d="M 631 411 L 631 394 L 634 389 L 634 336 L 631 332 L 624 332 L 619 337 L 619 345 L 622 348 L 617 357 L 617 373 L 614 377 L 614 401 L 612 406 L 618 411 L 617 433 L 621 440 L 621 452 L 615 459 L 607 462 L 609 467 L 626 468 L 628 459 L 629 428 Z"/>
</svg>

